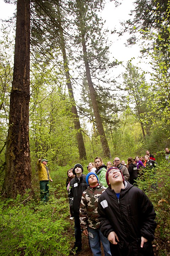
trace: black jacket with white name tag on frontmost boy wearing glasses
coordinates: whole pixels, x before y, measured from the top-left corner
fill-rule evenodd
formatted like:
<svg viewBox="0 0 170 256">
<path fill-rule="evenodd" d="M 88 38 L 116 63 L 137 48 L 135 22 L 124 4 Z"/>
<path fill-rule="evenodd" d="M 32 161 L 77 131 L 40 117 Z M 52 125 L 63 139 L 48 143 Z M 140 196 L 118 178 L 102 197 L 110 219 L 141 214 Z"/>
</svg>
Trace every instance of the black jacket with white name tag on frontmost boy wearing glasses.
<svg viewBox="0 0 170 256">
<path fill-rule="evenodd" d="M 139 188 L 125 181 L 117 198 L 114 190 L 107 188 L 98 199 L 98 213 L 101 231 L 106 238 L 114 231 L 119 239 L 118 245 L 111 244 L 111 251 L 117 256 L 151 256 L 151 241 L 154 239 L 155 212 L 148 197 Z M 141 236 L 146 238 L 140 247 Z"/>
</svg>

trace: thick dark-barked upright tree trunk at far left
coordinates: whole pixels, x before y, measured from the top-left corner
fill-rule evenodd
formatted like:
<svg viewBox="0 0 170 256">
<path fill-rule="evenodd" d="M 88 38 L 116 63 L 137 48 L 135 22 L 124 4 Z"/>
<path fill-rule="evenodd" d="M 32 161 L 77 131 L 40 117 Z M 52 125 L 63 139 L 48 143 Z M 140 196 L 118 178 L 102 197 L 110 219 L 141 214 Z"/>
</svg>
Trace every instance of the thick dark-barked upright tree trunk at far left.
<svg viewBox="0 0 170 256">
<path fill-rule="evenodd" d="M 2 193 L 15 198 L 31 186 L 29 149 L 30 0 L 17 0 L 13 82 Z"/>
</svg>

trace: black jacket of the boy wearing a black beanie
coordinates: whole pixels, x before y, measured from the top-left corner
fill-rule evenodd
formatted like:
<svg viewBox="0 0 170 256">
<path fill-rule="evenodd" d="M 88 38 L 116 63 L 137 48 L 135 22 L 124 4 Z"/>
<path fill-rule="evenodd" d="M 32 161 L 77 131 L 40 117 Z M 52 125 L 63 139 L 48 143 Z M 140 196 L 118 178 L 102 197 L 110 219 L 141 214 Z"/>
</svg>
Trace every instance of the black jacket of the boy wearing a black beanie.
<svg viewBox="0 0 170 256">
<path fill-rule="evenodd" d="M 70 192 L 68 194 L 69 204 L 73 207 L 74 215 L 80 214 L 80 202 L 82 193 L 87 189 L 86 175 L 82 174 L 80 180 L 75 176 L 70 181 Z"/>
</svg>

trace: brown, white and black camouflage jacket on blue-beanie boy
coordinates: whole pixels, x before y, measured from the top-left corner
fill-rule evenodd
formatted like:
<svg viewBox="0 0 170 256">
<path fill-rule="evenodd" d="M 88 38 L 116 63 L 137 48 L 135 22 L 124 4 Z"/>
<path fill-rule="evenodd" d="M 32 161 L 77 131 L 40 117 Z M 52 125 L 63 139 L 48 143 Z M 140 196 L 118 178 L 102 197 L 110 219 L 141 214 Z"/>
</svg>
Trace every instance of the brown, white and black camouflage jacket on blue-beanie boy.
<svg viewBox="0 0 170 256">
<path fill-rule="evenodd" d="M 100 221 L 98 220 L 98 198 L 106 190 L 106 187 L 99 185 L 97 187 L 88 187 L 82 194 L 80 203 L 80 226 L 82 230 L 87 229 L 87 224 L 90 228 L 99 228 Z"/>
</svg>

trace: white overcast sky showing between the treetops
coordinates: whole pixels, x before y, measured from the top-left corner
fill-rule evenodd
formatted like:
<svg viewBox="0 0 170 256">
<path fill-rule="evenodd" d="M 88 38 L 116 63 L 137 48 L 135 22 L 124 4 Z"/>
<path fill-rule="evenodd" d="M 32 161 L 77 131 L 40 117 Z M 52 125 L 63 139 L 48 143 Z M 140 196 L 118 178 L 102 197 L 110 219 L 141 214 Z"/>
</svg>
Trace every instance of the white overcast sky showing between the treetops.
<svg viewBox="0 0 170 256">
<path fill-rule="evenodd" d="M 133 9 L 132 0 L 123 0 L 122 4 L 118 7 L 115 7 L 114 1 L 108 0 L 104 10 L 102 11 L 102 18 L 103 20 L 106 20 L 106 27 L 108 27 L 109 30 L 114 30 L 114 28 L 118 29 L 120 27 L 120 21 L 128 20 L 130 18 L 129 14 L 131 9 Z M 3 0 L 0 0 L 1 19 L 11 17 L 14 11 L 14 5 L 6 4 Z M 135 58 L 132 60 L 132 63 L 147 71 L 149 67 L 144 63 L 145 59 L 142 58 L 141 60 L 138 58 L 140 56 L 140 47 L 138 45 L 126 47 L 125 42 L 127 38 L 127 34 L 122 37 L 118 37 L 117 34 L 110 35 L 109 39 L 112 41 L 110 52 L 112 53 L 112 56 L 114 56 L 118 61 L 123 61 L 124 65 L 126 65 L 126 62 L 131 58 Z M 139 61 L 143 63 L 139 63 Z M 116 76 L 122 71 L 123 69 L 121 66 L 116 68 Z"/>
</svg>

